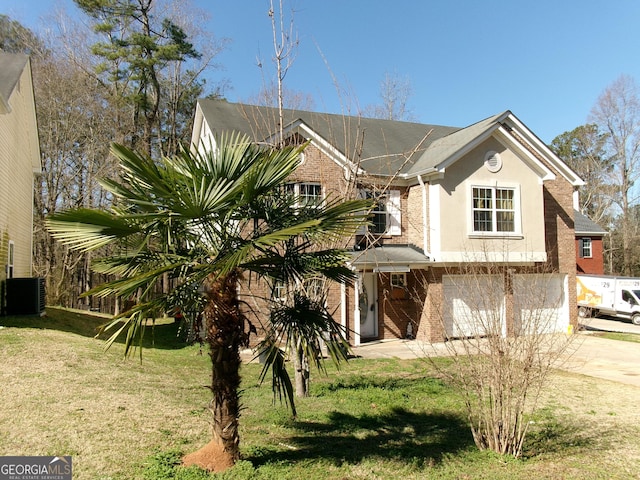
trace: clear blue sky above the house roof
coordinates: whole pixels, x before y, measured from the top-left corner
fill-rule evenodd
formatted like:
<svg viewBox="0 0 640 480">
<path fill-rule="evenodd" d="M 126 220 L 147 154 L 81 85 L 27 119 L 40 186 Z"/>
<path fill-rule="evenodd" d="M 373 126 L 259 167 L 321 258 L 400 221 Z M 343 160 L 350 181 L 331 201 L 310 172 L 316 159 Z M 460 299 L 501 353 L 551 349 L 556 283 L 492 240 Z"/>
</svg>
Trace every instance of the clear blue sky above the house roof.
<svg viewBox="0 0 640 480">
<path fill-rule="evenodd" d="M 277 0 L 276 0 L 277 1 Z M 256 66 L 273 47 L 268 0 L 195 0 L 230 43 L 219 57 L 227 98 L 262 86 Z M 637 0 L 287 0 L 300 46 L 285 83 L 315 109 L 353 113 L 380 103 L 385 73 L 408 79 L 424 123 L 466 126 L 511 110 L 543 141 L 587 122 L 622 74 L 640 83 Z M 39 17 L 71 0 L 0 0 L 0 13 L 37 31 Z M 70 7 L 71 6 L 71 7 Z M 338 88 L 336 88 L 336 83 Z"/>
</svg>

